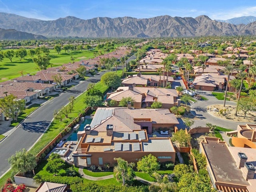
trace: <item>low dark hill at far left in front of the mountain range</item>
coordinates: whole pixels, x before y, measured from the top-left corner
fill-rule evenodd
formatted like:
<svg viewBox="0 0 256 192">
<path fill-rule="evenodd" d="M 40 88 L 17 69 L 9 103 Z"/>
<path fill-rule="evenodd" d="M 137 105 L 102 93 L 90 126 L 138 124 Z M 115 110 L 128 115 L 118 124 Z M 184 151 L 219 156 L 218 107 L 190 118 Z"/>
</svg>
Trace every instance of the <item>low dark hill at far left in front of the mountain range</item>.
<svg viewBox="0 0 256 192">
<path fill-rule="evenodd" d="M 42 35 L 16 31 L 15 29 L 1 29 L 0 40 L 25 40 L 25 39 L 47 39 Z"/>
</svg>

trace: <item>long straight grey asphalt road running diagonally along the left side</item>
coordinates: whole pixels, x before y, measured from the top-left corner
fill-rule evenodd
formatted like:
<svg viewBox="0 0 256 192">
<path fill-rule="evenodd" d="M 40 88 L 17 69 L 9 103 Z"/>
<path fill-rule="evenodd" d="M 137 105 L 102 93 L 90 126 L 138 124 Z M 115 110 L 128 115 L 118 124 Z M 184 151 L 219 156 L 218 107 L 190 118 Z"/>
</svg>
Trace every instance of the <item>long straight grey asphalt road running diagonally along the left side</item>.
<svg viewBox="0 0 256 192">
<path fill-rule="evenodd" d="M 53 118 L 54 110 L 68 104 L 68 98 L 71 95 L 76 97 L 84 92 L 89 83 L 100 81 L 104 73 L 100 72 L 98 75 L 78 84 L 68 92 L 63 92 L 58 97 L 50 100 L 33 112 L 7 138 L 0 142 L 0 177 L 10 168 L 8 158 L 18 150 L 23 148 L 28 150 L 43 134 Z"/>
</svg>

